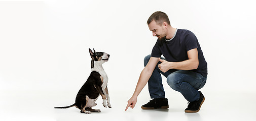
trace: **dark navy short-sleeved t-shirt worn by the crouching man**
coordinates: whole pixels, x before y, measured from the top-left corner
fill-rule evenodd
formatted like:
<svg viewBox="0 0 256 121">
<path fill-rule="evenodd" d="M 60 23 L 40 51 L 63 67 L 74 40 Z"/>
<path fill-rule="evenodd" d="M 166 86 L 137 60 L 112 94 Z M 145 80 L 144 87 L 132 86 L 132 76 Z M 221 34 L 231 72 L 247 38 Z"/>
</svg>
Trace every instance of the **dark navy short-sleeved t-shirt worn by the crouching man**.
<svg viewBox="0 0 256 121">
<path fill-rule="evenodd" d="M 203 76 L 207 76 L 207 63 L 196 36 L 189 30 L 177 29 L 174 37 L 170 40 L 157 40 L 152 49 L 152 57 L 163 55 L 168 62 L 182 62 L 189 59 L 188 51 L 197 48 L 199 65 L 196 70 Z"/>
</svg>

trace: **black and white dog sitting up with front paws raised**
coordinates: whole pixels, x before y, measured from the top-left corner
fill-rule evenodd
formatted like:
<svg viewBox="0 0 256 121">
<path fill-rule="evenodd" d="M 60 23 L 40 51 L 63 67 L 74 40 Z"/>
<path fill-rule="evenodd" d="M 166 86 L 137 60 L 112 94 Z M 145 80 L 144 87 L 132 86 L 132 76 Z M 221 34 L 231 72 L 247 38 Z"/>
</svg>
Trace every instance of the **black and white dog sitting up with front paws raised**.
<svg viewBox="0 0 256 121">
<path fill-rule="evenodd" d="M 81 113 L 89 114 L 91 112 L 100 112 L 100 109 L 92 109 L 93 106 L 97 105 L 95 101 L 98 99 L 99 95 L 102 97 L 102 104 L 104 107 L 112 107 L 107 89 L 108 77 L 102 67 L 102 64 L 108 61 L 110 55 L 105 52 L 95 52 L 94 49 L 92 52 L 90 48 L 89 52 L 92 58 L 92 72 L 85 84 L 79 90 L 76 97 L 76 102 L 70 106 L 54 108 L 69 108 L 76 106 L 81 110 Z"/>
</svg>

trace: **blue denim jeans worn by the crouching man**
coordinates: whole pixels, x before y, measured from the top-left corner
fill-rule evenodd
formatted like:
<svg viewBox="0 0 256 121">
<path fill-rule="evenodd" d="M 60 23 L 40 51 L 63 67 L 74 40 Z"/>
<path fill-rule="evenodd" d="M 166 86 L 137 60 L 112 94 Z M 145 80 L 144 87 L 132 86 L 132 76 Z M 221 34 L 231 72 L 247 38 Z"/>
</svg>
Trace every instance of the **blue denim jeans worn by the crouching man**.
<svg viewBox="0 0 256 121">
<path fill-rule="evenodd" d="M 150 57 L 151 55 L 145 56 L 144 66 L 148 64 Z M 165 58 L 161 57 L 161 59 Z M 184 70 L 169 70 L 163 73 L 158 68 L 159 64 L 161 62 L 157 64 L 148 82 L 151 98 L 165 98 L 162 74 L 167 78 L 168 85 L 173 90 L 180 92 L 189 102 L 199 100 L 200 94 L 198 90 L 205 85 L 207 76 L 204 77 L 199 73 Z"/>
</svg>

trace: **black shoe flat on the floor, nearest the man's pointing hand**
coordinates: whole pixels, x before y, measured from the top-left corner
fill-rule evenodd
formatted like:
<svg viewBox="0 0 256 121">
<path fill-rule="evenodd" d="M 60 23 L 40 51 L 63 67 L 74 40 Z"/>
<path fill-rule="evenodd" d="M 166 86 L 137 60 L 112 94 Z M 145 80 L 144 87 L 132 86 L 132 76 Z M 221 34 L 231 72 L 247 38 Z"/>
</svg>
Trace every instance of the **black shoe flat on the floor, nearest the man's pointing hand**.
<svg viewBox="0 0 256 121">
<path fill-rule="evenodd" d="M 141 106 L 142 109 L 167 109 L 169 108 L 167 98 L 155 98 Z"/>
</svg>

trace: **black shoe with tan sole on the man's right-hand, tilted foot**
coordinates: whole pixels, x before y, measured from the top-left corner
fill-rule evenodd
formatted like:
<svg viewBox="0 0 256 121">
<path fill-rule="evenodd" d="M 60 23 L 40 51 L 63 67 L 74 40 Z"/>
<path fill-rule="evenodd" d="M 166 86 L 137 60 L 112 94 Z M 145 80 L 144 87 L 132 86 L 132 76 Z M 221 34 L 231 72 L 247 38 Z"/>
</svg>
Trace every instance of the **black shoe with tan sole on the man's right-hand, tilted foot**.
<svg viewBox="0 0 256 121">
<path fill-rule="evenodd" d="M 188 104 L 188 108 L 185 109 L 185 112 L 198 112 L 201 108 L 201 105 L 203 104 L 205 98 L 204 95 L 202 94 L 201 91 L 199 91 L 200 93 L 200 98 L 198 101 L 193 101 L 193 102 L 189 102 Z"/>
</svg>

